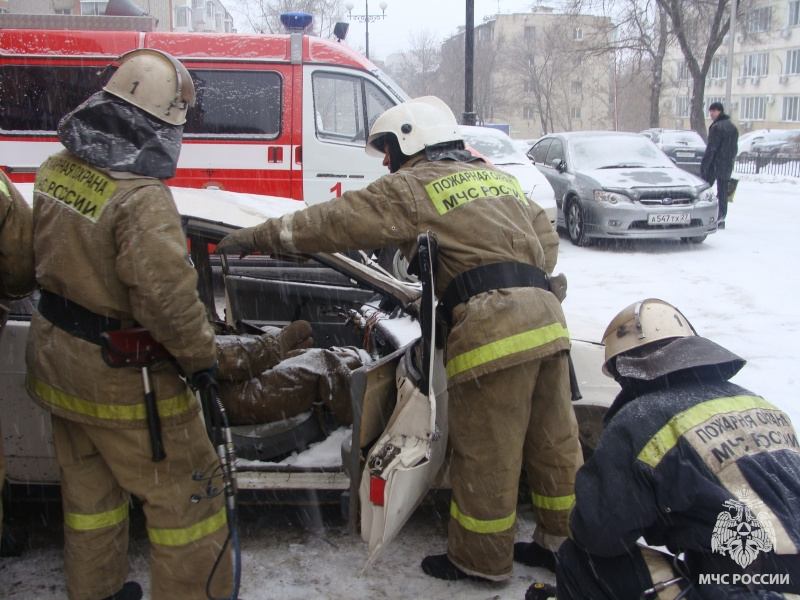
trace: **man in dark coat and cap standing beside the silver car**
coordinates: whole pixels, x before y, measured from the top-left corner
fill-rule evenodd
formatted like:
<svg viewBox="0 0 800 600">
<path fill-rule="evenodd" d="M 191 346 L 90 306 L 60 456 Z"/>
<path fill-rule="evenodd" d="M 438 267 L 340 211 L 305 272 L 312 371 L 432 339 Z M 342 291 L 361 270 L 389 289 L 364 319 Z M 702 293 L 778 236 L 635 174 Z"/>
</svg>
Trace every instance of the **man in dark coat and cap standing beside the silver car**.
<svg viewBox="0 0 800 600">
<path fill-rule="evenodd" d="M 733 162 L 739 143 L 739 130 L 725 114 L 720 102 L 713 102 L 708 109 L 713 119 L 708 128 L 708 144 L 703 162 L 700 164 L 700 177 L 709 185 L 717 182 L 717 198 L 719 199 L 719 227 L 725 228 L 725 216 L 728 214 L 728 181 L 733 172 Z"/>
</svg>

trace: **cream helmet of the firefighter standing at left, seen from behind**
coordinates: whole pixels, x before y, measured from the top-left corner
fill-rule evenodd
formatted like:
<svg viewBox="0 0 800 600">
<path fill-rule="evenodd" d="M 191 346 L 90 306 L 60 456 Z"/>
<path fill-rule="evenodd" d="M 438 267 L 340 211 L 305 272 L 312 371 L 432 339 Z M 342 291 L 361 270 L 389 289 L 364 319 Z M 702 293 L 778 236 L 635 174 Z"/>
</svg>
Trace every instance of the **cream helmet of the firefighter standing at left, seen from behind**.
<svg viewBox="0 0 800 600">
<path fill-rule="evenodd" d="M 194 106 L 192 77 L 166 52 L 140 48 L 120 56 L 116 72 L 103 88 L 171 125 L 183 125 Z"/>
</svg>

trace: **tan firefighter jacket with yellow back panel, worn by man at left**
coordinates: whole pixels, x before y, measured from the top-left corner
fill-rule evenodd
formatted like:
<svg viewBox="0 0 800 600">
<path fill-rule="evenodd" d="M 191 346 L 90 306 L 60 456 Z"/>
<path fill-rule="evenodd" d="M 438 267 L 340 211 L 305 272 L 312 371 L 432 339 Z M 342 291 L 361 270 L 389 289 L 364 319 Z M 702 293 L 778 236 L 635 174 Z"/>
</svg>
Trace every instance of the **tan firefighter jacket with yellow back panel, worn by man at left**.
<svg viewBox="0 0 800 600">
<path fill-rule="evenodd" d="M 84 308 L 138 323 L 164 344 L 187 375 L 210 368 L 216 346 L 197 294 L 197 273 L 169 188 L 159 179 L 89 166 L 62 151 L 34 186 L 36 276 L 45 290 Z M 28 391 L 61 417 L 103 426 L 143 427 L 138 369 L 112 369 L 100 346 L 34 313 L 28 337 Z M 162 423 L 199 406 L 173 362 L 151 369 Z"/>
</svg>

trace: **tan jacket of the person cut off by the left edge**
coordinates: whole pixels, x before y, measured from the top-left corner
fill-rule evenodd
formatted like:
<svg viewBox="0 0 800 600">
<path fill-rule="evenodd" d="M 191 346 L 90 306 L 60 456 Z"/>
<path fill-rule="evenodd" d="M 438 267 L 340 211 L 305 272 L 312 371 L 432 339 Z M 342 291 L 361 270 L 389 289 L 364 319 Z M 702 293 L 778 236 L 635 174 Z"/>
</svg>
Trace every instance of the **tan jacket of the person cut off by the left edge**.
<svg viewBox="0 0 800 600">
<path fill-rule="evenodd" d="M 0 299 L 25 296 L 35 284 L 31 209 L 0 171 Z"/>
</svg>

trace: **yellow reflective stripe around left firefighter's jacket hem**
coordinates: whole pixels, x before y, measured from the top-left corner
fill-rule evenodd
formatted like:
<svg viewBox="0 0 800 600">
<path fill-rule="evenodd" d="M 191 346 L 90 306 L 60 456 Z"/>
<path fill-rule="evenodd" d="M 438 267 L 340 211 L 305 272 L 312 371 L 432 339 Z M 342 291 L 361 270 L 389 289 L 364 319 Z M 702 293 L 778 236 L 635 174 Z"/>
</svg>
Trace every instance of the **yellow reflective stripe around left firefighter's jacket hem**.
<svg viewBox="0 0 800 600">
<path fill-rule="evenodd" d="M 84 400 L 83 398 L 70 396 L 44 381 L 36 379 L 30 374 L 28 375 L 28 387 L 45 402 L 82 415 L 96 417 L 98 419 L 115 419 L 118 421 L 136 421 L 147 418 L 144 402 L 126 406 L 97 404 L 96 402 Z M 158 400 L 156 402 L 158 414 L 161 417 L 179 415 L 189 410 L 195 401 L 195 397 L 187 389 L 180 396 Z"/>
</svg>

